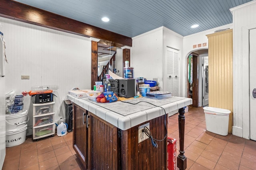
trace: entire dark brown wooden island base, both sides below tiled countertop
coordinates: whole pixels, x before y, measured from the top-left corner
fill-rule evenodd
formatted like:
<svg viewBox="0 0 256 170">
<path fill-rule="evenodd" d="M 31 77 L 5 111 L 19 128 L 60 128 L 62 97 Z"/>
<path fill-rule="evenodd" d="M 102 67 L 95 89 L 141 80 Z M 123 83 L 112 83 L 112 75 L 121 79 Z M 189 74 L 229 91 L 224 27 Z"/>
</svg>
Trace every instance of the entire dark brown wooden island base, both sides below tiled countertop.
<svg viewBox="0 0 256 170">
<path fill-rule="evenodd" d="M 156 139 L 166 134 L 164 118 L 145 122 Z M 166 169 L 167 139 L 158 148 L 149 139 L 138 143 L 140 125 L 123 131 L 73 104 L 73 148 L 88 170 Z"/>
</svg>

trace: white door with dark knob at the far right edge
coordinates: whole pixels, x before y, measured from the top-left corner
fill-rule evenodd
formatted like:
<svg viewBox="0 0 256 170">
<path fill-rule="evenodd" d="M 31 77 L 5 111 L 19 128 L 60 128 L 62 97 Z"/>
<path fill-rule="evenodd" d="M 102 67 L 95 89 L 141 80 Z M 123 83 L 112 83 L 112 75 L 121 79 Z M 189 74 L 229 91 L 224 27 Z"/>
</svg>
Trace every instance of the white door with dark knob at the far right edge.
<svg viewBox="0 0 256 170">
<path fill-rule="evenodd" d="M 256 29 L 250 30 L 250 139 L 256 141 Z M 255 90 L 254 90 L 255 89 Z"/>
</svg>

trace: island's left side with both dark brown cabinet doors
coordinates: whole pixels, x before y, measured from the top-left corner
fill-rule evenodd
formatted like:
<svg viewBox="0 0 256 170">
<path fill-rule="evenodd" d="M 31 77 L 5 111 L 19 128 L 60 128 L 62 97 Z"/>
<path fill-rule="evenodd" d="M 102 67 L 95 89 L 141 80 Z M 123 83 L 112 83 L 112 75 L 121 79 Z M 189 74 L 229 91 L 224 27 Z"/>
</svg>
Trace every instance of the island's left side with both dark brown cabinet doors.
<svg viewBox="0 0 256 170">
<path fill-rule="evenodd" d="M 73 108 L 73 148 L 84 167 L 117 170 L 117 127 L 76 104 Z"/>
</svg>

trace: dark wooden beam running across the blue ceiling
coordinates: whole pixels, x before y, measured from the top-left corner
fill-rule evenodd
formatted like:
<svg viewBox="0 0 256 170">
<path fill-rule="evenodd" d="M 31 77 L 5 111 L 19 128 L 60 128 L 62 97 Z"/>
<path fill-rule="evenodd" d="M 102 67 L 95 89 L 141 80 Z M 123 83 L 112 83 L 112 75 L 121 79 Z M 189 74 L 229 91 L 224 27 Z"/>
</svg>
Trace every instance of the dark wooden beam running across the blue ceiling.
<svg viewBox="0 0 256 170">
<path fill-rule="evenodd" d="M 132 47 L 132 38 L 12 0 L 0 0 L 0 16 L 85 37 L 107 45 Z"/>
</svg>

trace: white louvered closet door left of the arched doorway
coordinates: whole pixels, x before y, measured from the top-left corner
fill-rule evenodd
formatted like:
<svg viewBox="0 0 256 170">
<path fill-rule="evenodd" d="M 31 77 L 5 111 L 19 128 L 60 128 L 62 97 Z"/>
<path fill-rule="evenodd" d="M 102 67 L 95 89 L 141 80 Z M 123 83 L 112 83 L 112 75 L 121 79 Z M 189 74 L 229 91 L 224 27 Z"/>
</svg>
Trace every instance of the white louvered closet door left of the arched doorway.
<svg viewBox="0 0 256 170">
<path fill-rule="evenodd" d="M 180 96 L 179 86 L 179 51 L 167 47 L 167 84 L 166 91 L 171 92 L 172 96 Z"/>
</svg>

